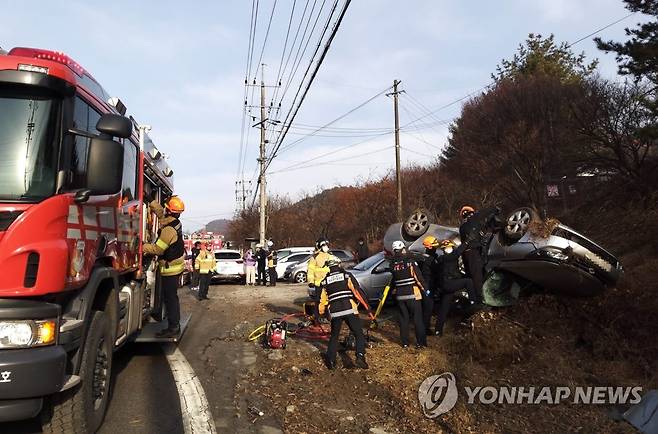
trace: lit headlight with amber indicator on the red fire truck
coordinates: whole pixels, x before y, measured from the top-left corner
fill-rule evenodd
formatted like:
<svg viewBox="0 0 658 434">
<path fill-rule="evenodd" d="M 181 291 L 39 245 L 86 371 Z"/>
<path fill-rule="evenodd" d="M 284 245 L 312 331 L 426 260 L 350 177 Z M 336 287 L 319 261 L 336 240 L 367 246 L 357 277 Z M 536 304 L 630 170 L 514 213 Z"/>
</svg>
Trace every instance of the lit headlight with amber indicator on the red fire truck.
<svg viewBox="0 0 658 434">
<path fill-rule="evenodd" d="M 0 348 L 30 348 L 54 344 L 56 320 L 0 321 Z"/>
</svg>

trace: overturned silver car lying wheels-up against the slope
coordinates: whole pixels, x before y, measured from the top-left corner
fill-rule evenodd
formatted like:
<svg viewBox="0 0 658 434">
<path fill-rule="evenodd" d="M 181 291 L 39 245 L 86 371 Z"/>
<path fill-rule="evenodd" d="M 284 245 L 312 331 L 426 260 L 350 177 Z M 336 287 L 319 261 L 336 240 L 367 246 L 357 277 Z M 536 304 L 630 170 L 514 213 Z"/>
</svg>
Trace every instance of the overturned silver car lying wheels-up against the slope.
<svg viewBox="0 0 658 434">
<path fill-rule="evenodd" d="M 509 304 L 510 293 L 516 298 L 526 287 L 592 296 L 614 286 L 621 276 L 621 263 L 612 253 L 557 220 L 541 220 L 531 208 L 497 220 L 497 230 L 484 236 L 482 248 L 487 304 Z M 403 240 L 409 252 L 420 255 L 428 235 L 460 242 L 459 228 L 434 224 L 428 212 L 417 210 L 404 223 L 388 228 L 384 248 L 390 251 L 393 241 Z"/>
</svg>

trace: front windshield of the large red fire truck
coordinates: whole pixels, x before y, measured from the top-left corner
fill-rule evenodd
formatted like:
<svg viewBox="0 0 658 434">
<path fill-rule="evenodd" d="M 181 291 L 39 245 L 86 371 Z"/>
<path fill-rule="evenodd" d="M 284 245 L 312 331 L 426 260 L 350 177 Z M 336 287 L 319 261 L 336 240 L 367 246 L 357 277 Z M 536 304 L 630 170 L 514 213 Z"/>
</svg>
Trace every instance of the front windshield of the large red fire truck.
<svg viewBox="0 0 658 434">
<path fill-rule="evenodd" d="M 60 106 L 35 89 L 0 86 L 0 201 L 53 194 Z"/>
</svg>

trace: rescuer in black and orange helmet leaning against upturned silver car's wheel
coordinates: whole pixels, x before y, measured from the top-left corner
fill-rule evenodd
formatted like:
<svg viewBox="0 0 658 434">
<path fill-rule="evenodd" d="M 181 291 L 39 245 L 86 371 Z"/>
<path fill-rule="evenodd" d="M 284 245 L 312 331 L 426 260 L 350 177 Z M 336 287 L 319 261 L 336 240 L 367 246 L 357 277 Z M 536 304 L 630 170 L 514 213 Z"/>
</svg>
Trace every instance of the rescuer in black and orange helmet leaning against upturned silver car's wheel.
<svg viewBox="0 0 658 434">
<path fill-rule="evenodd" d="M 500 223 L 496 216 L 500 214 L 500 208 L 486 208 L 476 211 L 469 205 L 464 205 L 459 211 L 462 224 L 459 226 L 459 237 L 462 243 L 467 243 L 468 248 L 464 251 L 464 268 L 466 274 L 473 279 L 473 285 L 477 294 L 477 302 L 482 301 L 482 285 L 484 284 L 484 258 L 485 236 L 491 229 L 495 229 Z"/>
</svg>

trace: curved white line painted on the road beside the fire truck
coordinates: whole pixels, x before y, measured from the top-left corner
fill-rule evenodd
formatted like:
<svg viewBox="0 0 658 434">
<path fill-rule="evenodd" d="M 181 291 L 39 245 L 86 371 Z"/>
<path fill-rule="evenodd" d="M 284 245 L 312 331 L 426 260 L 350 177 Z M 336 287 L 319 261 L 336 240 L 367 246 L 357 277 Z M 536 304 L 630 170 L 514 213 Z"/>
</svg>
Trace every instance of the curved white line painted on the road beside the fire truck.
<svg viewBox="0 0 658 434">
<path fill-rule="evenodd" d="M 177 345 L 168 344 L 164 349 L 180 397 L 185 434 L 217 433 L 208 399 L 194 369 Z"/>
</svg>

